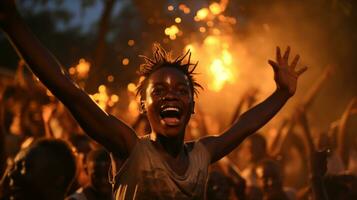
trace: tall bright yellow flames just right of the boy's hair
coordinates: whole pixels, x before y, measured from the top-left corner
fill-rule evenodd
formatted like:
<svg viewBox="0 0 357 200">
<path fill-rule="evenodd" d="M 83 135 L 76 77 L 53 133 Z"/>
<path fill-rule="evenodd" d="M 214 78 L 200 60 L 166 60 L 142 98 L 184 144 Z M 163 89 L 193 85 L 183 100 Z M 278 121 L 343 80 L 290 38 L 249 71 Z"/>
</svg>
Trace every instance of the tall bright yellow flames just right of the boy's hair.
<svg viewBox="0 0 357 200">
<path fill-rule="evenodd" d="M 184 52 L 190 50 L 194 58 L 200 61 L 199 70 L 205 75 L 203 82 L 214 92 L 221 91 L 227 84 L 234 84 L 239 75 L 230 47 L 233 40 L 231 29 L 232 25 L 236 24 L 236 19 L 223 14 L 227 3 L 227 0 L 213 2 L 196 12 L 194 21 L 204 39 L 201 43 L 189 43 L 184 48 Z M 179 8 L 189 9 L 183 4 Z M 175 33 L 178 33 L 179 28 L 176 31 Z M 169 35 L 169 32 L 166 28 L 165 34 Z M 170 39 L 173 38 L 170 35 Z"/>
</svg>

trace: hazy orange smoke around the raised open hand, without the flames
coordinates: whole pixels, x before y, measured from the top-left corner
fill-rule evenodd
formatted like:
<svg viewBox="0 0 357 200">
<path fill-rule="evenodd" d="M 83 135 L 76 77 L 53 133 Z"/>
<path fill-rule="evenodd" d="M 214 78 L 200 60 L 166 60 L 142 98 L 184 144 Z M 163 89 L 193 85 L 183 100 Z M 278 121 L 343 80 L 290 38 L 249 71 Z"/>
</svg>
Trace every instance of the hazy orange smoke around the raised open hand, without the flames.
<svg viewBox="0 0 357 200">
<path fill-rule="evenodd" d="M 193 52 L 193 57 L 200 61 L 199 80 L 206 86 L 197 99 L 198 106 L 224 127 L 228 126 L 247 90 L 259 89 L 258 102 L 274 91 L 273 71 L 267 60 L 275 59 L 276 46 L 285 50 L 289 45 L 290 60 L 299 54 L 297 68 L 308 66 L 309 69 L 299 79 L 295 96 L 269 125 L 275 126 L 282 117 L 292 115 L 324 69 L 332 65 L 333 73 L 316 95 L 309 112 L 311 122 L 319 127 L 317 131 L 327 129 L 329 123 L 339 118 L 352 96 L 357 95 L 357 73 L 353 68 L 356 60 L 352 56 L 356 44 L 353 8 L 356 6 L 348 1 L 230 1 L 225 14 L 234 16 L 237 23 L 231 25 L 233 32 L 220 27 L 220 37 L 229 38 L 224 41 L 229 41 L 236 80 L 225 84 L 219 92 L 207 89 L 210 81 L 207 57 L 200 56 L 202 48 L 196 54 Z"/>
</svg>

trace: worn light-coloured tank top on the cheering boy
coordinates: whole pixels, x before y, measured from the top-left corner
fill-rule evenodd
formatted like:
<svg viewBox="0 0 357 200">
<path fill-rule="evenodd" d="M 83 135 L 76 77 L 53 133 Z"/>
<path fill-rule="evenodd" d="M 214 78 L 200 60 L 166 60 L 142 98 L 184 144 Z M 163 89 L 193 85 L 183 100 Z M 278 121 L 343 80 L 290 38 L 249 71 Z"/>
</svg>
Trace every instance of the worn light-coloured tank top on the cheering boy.
<svg viewBox="0 0 357 200">
<path fill-rule="evenodd" d="M 201 142 L 194 142 L 188 156 L 185 174 L 178 175 L 149 137 L 140 139 L 114 178 L 115 199 L 204 199 L 209 152 Z"/>
</svg>

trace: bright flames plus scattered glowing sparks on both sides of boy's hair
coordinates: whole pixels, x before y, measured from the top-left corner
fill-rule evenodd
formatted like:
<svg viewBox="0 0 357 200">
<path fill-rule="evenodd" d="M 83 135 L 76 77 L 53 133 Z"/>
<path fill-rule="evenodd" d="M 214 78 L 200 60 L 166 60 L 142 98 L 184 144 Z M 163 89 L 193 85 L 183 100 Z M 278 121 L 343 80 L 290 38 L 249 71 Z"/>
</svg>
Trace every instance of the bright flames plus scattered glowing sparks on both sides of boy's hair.
<svg viewBox="0 0 357 200">
<path fill-rule="evenodd" d="M 212 92 L 221 92 L 228 84 L 234 84 L 239 75 L 238 65 L 235 60 L 236 56 L 232 53 L 232 25 L 236 24 L 236 19 L 225 16 L 223 13 L 227 7 L 228 0 L 213 2 L 207 7 L 197 10 L 193 14 L 193 21 L 197 24 L 197 33 L 204 36 L 201 42 L 187 43 L 184 51 L 190 50 L 193 53 L 193 59 L 199 60 L 200 65 L 198 71 L 203 75 L 200 80 L 203 85 L 207 86 Z M 176 7 L 169 5 L 169 12 L 174 12 Z M 177 6 L 178 12 L 189 16 L 192 10 L 185 4 Z M 164 29 L 164 34 L 170 40 L 175 40 L 177 37 L 183 36 L 182 28 L 183 16 L 174 17 L 173 24 Z M 186 41 L 190 41 L 188 36 L 184 35 Z M 167 39 L 166 39 L 167 40 Z M 133 46 L 135 40 L 128 40 L 128 46 Z M 235 57 L 235 59 L 233 59 Z M 128 58 L 123 58 L 122 65 L 129 64 Z M 81 58 L 75 67 L 69 69 L 70 74 L 76 80 L 86 80 L 90 70 L 90 63 Z M 108 82 L 113 82 L 112 75 L 107 76 Z M 138 113 L 138 99 L 135 97 L 136 84 L 130 83 L 127 87 L 129 97 L 128 111 L 133 117 Z M 107 110 L 113 107 L 118 101 L 119 96 L 111 94 L 108 87 L 104 84 L 98 87 L 98 92 L 90 95 L 91 98 L 103 109 Z"/>
</svg>

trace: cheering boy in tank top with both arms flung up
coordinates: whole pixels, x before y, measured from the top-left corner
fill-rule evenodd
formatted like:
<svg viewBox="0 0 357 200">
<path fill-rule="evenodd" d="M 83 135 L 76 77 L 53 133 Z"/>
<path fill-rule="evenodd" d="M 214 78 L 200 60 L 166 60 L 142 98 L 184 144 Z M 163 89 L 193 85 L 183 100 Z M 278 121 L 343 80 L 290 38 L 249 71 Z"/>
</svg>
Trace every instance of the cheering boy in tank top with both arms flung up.
<svg viewBox="0 0 357 200">
<path fill-rule="evenodd" d="M 171 60 L 158 47 L 153 59 L 145 58 L 140 71 L 145 79 L 138 94 L 152 132 L 139 138 L 127 124 L 101 110 L 68 78 L 29 31 L 14 1 L 1 1 L 0 23 L 28 66 L 70 110 L 83 130 L 114 159 L 125 160 L 115 177 L 116 199 L 203 199 L 209 164 L 266 124 L 294 95 L 297 79 L 306 70 L 295 71 L 299 56 L 288 63 L 289 47 L 283 56 L 277 48 L 276 61 L 269 61 L 277 85 L 273 94 L 218 136 L 185 143 L 185 129 L 194 112 L 194 93 L 200 87 L 193 77 L 196 65 L 190 59 L 184 63 L 187 54 Z"/>
</svg>

